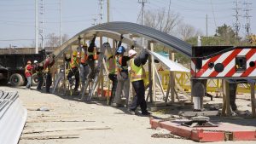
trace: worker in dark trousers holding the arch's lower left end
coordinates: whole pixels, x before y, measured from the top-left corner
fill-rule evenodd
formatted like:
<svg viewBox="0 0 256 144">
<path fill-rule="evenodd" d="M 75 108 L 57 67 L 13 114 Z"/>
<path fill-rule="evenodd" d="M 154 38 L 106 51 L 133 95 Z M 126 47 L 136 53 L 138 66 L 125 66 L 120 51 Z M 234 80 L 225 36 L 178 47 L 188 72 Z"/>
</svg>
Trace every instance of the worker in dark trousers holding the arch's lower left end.
<svg viewBox="0 0 256 144">
<path fill-rule="evenodd" d="M 50 68 L 55 64 L 55 55 L 47 55 L 47 58 L 44 63 L 44 73 L 46 75 L 46 80 L 45 80 L 45 91 L 46 93 L 49 92 L 49 88 L 52 84 L 52 79 L 51 79 L 51 72 Z"/>
</svg>

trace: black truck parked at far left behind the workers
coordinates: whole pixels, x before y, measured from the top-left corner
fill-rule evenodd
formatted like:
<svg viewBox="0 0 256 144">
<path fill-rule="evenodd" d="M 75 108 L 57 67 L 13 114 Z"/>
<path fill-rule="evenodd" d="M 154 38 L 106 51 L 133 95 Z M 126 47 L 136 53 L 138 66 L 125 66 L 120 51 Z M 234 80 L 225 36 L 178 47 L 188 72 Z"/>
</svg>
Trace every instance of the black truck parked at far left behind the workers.
<svg viewBox="0 0 256 144">
<path fill-rule="evenodd" d="M 45 50 L 38 54 L 5 54 L 0 55 L 0 84 L 12 86 L 21 86 L 26 84 L 25 66 L 27 60 L 38 60 L 41 62 L 45 59 Z M 36 75 L 32 75 L 32 84 L 35 84 Z"/>
</svg>

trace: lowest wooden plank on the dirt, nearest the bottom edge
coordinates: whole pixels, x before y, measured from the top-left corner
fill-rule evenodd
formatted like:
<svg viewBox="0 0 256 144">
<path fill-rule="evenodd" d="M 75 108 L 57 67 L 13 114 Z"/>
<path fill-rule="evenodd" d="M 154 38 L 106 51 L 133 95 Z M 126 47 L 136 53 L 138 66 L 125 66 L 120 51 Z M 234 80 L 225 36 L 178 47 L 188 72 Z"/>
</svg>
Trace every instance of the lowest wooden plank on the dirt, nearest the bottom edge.
<svg viewBox="0 0 256 144">
<path fill-rule="evenodd" d="M 44 134 L 44 135 L 21 135 L 20 140 L 47 140 L 79 138 L 79 134 Z"/>
</svg>

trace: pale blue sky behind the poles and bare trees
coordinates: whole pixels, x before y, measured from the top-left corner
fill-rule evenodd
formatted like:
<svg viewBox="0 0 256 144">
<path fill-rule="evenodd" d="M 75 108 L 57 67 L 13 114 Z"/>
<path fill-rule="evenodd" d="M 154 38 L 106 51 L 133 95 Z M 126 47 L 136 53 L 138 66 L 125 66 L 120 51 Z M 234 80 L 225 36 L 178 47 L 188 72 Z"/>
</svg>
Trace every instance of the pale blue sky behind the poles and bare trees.
<svg viewBox="0 0 256 144">
<path fill-rule="evenodd" d="M 142 0 L 140 0 L 142 1 Z M 179 14 L 183 23 L 194 26 L 206 35 L 206 15 L 208 16 L 208 36 L 212 36 L 218 26 L 235 23 L 236 0 L 171 0 L 171 12 Z M 251 32 L 256 34 L 256 1 L 238 0 L 240 34 L 245 35 L 245 4 L 249 4 Z M 42 0 L 38 0 L 38 26 L 42 21 Z M 44 0 L 44 36 L 49 33 L 59 35 L 60 0 Z M 147 0 L 145 10 L 168 9 L 170 0 Z M 141 10 L 138 0 L 110 0 L 110 20 L 137 23 Z M 76 33 L 92 26 L 100 19 L 99 0 L 61 0 L 61 33 L 73 37 Z M 103 0 L 103 20 L 107 22 L 107 0 Z M 41 36 L 38 35 L 41 42 Z M 32 46 L 35 40 L 35 0 L 0 0 L 0 48 L 9 45 Z"/>
</svg>

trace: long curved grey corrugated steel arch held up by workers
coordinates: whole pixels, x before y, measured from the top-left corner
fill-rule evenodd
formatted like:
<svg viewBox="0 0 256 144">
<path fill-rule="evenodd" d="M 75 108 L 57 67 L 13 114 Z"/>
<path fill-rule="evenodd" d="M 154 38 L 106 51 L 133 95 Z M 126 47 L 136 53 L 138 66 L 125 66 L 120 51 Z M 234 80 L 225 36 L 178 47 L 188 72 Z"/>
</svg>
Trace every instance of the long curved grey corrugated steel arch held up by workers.
<svg viewBox="0 0 256 144">
<path fill-rule="evenodd" d="M 173 37 L 165 32 L 160 32 L 154 28 L 148 26 L 142 26 L 131 22 L 108 22 L 97 26 L 91 26 L 82 32 L 79 32 L 74 37 L 69 39 L 66 43 L 62 44 L 60 48 L 55 49 L 54 54 L 56 58 L 59 58 L 68 48 L 68 46 L 78 41 L 79 36 L 91 37 L 93 34 L 97 33 L 98 36 L 109 37 L 113 39 L 119 39 L 120 34 L 133 34 L 140 37 L 146 37 L 149 40 L 161 43 L 166 47 L 173 48 L 183 55 L 191 57 L 192 47 L 189 43 Z M 128 37 L 123 40 L 124 43 L 134 44 L 135 42 Z M 139 46 L 139 45 L 137 45 Z M 141 47 L 141 46 L 139 46 Z"/>
</svg>

